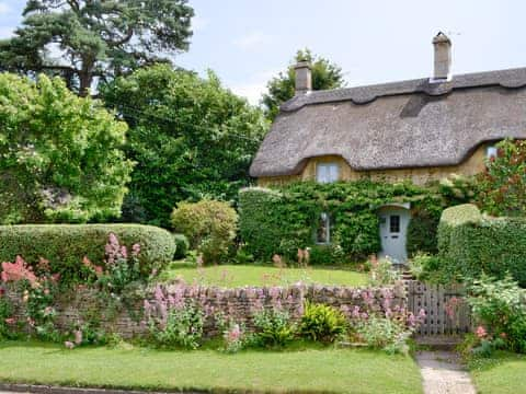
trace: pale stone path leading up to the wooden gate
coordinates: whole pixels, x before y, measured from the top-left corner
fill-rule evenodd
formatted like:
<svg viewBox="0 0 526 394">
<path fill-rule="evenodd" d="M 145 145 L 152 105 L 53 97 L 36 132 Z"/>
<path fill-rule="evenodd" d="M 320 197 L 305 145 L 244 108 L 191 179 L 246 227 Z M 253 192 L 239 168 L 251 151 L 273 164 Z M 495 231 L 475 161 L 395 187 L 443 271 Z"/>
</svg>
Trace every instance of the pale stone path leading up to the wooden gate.
<svg viewBox="0 0 526 394">
<path fill-rule="evenodd" d="M 469 373 L 450 351 L 419 351 L 425 394 L 477 394 Z"/>
</svg>

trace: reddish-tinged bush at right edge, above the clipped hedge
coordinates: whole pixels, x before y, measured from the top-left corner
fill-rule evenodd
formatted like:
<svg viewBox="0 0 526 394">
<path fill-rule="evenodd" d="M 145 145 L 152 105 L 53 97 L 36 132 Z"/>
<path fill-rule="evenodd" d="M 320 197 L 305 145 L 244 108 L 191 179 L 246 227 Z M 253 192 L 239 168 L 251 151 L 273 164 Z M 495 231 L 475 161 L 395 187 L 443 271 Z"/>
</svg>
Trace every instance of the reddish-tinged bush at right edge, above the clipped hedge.
<svg viewBox="0 0 526 394">
<path fill-rule="evenodd" d="M 496 158 L 487 163 L 478 176 L 477 202 L 494 216 L 526 215 L 526 141 L 504 140 L 498 144 Z"/>
</svg>

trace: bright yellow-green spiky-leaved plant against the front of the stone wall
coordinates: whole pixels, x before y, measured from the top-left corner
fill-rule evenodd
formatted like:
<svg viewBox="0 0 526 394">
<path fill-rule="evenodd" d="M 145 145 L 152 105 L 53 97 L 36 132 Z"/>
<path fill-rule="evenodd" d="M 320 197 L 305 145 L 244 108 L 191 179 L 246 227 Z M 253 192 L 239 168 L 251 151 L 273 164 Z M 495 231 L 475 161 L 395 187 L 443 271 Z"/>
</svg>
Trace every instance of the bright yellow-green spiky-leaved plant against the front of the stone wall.
<svg viewBox="0 0 526 394">
<path fill-rule="evenodd" d="M 299 334 L 323 343 L 333 343 L 345 333 L 346 320 L 333 306 L 308 302 L 299 324 Z"/>
</svg>

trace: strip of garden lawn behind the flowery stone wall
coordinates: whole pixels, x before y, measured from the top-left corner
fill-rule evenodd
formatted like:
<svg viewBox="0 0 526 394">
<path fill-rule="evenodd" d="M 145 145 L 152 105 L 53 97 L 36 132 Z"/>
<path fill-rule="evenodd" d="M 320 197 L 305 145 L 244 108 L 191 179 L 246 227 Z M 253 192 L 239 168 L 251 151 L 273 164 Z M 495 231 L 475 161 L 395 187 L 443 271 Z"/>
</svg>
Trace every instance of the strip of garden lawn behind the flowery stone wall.
<svg viewBox="0 0 526 394">
<path fill-rule="evenodd" d="M 321 285 L 363 286 L 365 274 L 330 268 L 275 268 L 270 266 L 220 265 L 195 268 L 188 264 L 173 263 L 163 273 L 163 280 L 182 278 L 187 283 L 219 287 L 286 286 L 304 281 Z"/>
</svg>

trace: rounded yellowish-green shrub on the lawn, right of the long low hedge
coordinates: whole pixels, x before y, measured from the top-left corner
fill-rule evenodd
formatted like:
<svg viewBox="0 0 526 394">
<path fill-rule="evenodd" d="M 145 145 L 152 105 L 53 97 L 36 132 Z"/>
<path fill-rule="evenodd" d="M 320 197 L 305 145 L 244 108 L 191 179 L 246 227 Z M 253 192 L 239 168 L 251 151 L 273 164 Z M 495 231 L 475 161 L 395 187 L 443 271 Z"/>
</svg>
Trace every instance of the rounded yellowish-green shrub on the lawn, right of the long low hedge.
<svg viewBox="0 0 526 394">
<path fill-rule="evenodd" d="M 222 201 L 181 202 L 172 213 L 173 228 L 187 236 L 205 263 L 219 263 L 228 254 L 237 224 L 238 215 Z"/>
</svg>

